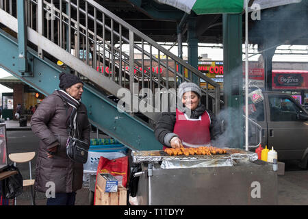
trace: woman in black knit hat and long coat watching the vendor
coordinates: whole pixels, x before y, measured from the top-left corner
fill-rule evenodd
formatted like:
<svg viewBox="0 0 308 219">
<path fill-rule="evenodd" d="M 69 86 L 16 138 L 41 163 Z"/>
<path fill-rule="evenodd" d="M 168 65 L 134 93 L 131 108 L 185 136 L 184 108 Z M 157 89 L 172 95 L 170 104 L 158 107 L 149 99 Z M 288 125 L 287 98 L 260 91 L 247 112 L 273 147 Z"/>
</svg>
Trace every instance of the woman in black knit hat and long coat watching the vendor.
<svg viewBox="0 0 308 219">
<path fill-rule="evenodd" d="M 81 103 L 83 86 L 79 77 L 61 73 L 60 90 L 47 96 L 31 118 L 31 129 L 40 138 L 35 188 L 46 193 L 47 205 L 74 205 L 82 186 L 84 166 L 67 157 L 66 141 L 71 128 L 90 145 L 90 123 Z"/>
</svg>

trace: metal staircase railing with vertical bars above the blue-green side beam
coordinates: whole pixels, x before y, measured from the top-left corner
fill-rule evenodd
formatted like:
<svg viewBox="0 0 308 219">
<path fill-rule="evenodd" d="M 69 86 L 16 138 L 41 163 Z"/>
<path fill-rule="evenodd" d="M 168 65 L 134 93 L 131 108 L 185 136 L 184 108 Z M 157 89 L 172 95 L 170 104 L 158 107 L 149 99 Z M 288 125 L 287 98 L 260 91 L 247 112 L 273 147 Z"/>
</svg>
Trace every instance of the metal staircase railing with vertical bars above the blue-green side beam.
<svg viewBox="0 0 308 219">
<path fill-rule="evenodd" d="M 88 68 L 81 70 L 65 58 L 61 60 L 107 92 L 116 95 L 119 88 L 127 88 L 133 95 L 136 87 L 138 90 L 148 88 L 154 99 L 155 89 L 173 88 L 176 91 L 183 81 L 192 81 L 199 86 L 202 81 L 207 109 L 219 112 L 218 83 L 99 3 L 92 0 L 25 0 L 25 5 L 27 27 L 97 70 L 104 80 L 108 78 L 118 85 L 105 86 L 106 83 L 102 84 L 97 77 L 86 73 Z M 0 0 L 0 8 L 16 18 L 16 1 Z M 37 49 L 42 57 L 55 54 L 48 47 L 40 48 L 40 44 Z"/>
</svg>

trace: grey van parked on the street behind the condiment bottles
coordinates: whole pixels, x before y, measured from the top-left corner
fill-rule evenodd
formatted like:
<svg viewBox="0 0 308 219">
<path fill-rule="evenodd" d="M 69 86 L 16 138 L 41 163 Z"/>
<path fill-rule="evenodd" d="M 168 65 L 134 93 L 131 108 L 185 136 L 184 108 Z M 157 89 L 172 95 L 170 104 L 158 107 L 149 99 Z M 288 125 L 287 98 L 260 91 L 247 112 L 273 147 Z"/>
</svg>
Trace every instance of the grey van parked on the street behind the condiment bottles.
<svg viewBox="0 0 308 219">
<path fill-rule="evenodd" d="M 262 92 L 264 99 L 252 103 L 249 118 L 261 126 L 261 144 L 274 146 L 279 160 L 298 159 L 308 162 L 308 113 L 289 94 Z M 257 133 L 255 133 L 257 135 Z"/>
</svg>

